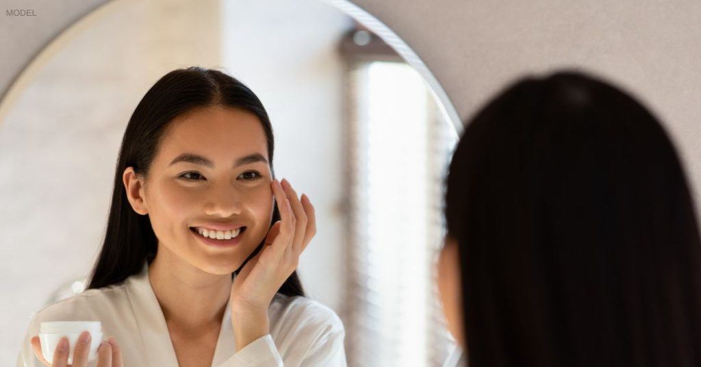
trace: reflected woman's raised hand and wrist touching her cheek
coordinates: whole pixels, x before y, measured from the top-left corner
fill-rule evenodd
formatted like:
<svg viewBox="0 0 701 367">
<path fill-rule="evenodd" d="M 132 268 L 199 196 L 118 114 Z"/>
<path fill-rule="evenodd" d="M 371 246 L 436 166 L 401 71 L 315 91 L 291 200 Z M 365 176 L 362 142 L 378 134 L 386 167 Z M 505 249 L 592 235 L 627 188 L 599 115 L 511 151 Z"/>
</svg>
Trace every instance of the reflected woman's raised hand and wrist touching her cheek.
<svg viewBox="0 0 701 367">
<path fill-rule="evenodd" d="M 314 207 L 283 179 L 271 182 L 280 220 L 268 231 L 261 251 L 233 279 L 229 305 L 236 349 L 269 333 L 268 306 L 287 277 L 297 269 L 299 255 L 316 234 Z"/>
</svg>

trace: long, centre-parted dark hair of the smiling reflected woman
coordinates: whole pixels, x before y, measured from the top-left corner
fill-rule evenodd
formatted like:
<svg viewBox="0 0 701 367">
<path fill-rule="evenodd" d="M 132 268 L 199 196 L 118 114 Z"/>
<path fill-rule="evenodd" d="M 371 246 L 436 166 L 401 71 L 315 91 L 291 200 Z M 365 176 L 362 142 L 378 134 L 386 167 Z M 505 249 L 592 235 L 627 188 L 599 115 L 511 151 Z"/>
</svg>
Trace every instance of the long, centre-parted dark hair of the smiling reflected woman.
<svg viewBox="0 0 701 367">
<path fill-rule="evenodd" d="M 213 69 L 189 67 L 165 74 L 144 95 L 129 119 L 114 174 L 114 191 L 104 243 L 93 267 L 88 289 L 120 283 L 140 272 L 144 260 L 149 264 L 154 260 L 158 250 L 156 234 L 148 216 L 139 215 L 130 206 L 122 175 L 131 166 L 137 174 L 147 177 L 161 136 L 170 122 L 191 109 L 212 105 L 245 109 L 258 117 L 266 134 L 272 171 L 273 128 L 263 104 L 250 88 Z M 275 206 L 271 225 L 277 220 L 280 220 L 280 213 Z M 246 261 L 260 251 L 263 244 L 261 242 Z M 278 293 L 304 296 L 297 272 L 285 280 Z"/>
</svg>

